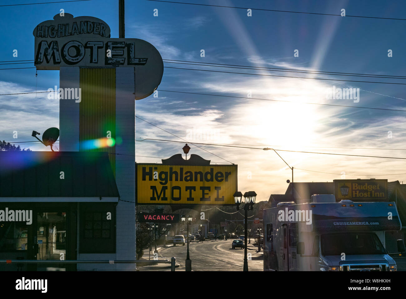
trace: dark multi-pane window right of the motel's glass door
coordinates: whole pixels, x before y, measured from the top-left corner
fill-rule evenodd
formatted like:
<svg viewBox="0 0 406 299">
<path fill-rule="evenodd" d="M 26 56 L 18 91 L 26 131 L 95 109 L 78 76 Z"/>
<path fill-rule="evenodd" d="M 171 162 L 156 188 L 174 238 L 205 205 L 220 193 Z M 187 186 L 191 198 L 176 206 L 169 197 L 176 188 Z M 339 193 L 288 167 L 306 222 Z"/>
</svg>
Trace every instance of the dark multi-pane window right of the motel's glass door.
<svg viewBox="0 0 406 299">
<path fill-rule="evenodd" d="M 85 214 L 84 238 L 110 238 L 111 220 L 106 218 L 107 212 L 87 212 Z"/>
</svg>

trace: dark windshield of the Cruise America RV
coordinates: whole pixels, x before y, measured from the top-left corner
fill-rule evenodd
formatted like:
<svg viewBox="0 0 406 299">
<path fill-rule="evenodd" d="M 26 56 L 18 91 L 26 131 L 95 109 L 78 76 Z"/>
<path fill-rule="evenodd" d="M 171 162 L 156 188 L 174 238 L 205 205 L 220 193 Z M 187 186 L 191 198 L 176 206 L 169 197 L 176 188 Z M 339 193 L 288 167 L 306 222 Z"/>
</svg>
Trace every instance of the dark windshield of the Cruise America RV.
<svg viewBox="0 0 406 299">
<path fill-rule="evenodd" d="M 386 254 L 374 233 L 339 233 L 322 235 L 322 255 Z"/>
</svg>

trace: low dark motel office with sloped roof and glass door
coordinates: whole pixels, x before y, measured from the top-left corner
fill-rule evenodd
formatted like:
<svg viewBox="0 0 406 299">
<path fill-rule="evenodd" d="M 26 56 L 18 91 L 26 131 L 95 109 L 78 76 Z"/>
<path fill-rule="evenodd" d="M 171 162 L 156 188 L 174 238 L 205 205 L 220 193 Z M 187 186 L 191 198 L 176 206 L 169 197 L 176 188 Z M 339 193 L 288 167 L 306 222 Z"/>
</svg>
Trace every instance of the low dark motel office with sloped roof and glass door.
<svg viewBox="0 0 406 299">
<path fill-rule="evenodd" d="M 119 192 L 107 153 L 0 152 L 0 165 L 1 260 L 95 260 L 116 252 Z M 1 264 L 0 270 L 78 267 Z"/>
</svg>

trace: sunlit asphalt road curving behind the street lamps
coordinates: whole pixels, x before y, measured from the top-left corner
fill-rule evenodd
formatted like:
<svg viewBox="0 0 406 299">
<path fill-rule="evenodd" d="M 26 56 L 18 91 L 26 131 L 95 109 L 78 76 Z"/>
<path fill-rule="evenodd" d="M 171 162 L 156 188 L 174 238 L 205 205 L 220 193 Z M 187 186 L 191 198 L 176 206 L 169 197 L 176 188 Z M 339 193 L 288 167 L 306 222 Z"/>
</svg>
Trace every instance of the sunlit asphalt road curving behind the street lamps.
<svg viewBox="0 0 406 299">
<path fill-rule="evenodd" d="M 192 271 L 242 271 L 244 265 L 244 249 L 232 249 L 229 240 L 204 241 L 189 243 L 189 255 L 192 260 Z M 185 270 L 187 245 L 170 245 L 162 248 L 159 255 L 167 258 L 176 258 L 180 264 L 178 270 Z M 248 244 L 248 271 L 263 271 L 263 254 L 257 253 L 257 247 Z M 251 260 L 250 260 L 251 253 Z"/>
</svg>

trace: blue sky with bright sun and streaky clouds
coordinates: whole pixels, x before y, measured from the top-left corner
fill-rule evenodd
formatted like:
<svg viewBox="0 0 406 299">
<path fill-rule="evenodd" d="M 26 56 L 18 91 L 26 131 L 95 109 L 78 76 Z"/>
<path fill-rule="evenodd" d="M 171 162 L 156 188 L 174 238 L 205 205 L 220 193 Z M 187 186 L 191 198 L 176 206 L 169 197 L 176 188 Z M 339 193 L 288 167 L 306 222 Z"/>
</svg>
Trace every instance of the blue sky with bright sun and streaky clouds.
<svg viewBox="0 0 406 299">
<path fill-rule="evenodd" d="M 32 1 L 15 1 L 16 4 Z M 34 1 L 35 2 L 35 1 Z M 194 3 L 246 7 L 246 1 L 191 1 Z M 0 1 L 2 5 L 8 1 Z M 268 68 L 293 68 L 381 75 L 405 75 L 406 21 L 330 15 L 311 15 L 258 11 L 255 8 L 284 11 L 404 18 L 402 1 L 252 1 L 252 16 L 246 9 L 171 4 L 147 0 L 126 1 L 125 36 L 149 41 L 164 59 L 253 65 Z M 3 46 L 1 61 L 28 60 L 34 57 L 35 26 L 51 20 L 63 8 L 74 17 L 98 17 L 118 37 L 118 1 L 92 0 L 73 3 L 0 7 Z M 158 17 L 153 16 L 158 9 Z M 18 58 L 13 50 L 18 50 Z M 201 57 L 201 49 L 205 57 Z M 294 50 L 299 57 L 294 57 Z M 388 49 L 393 57 L 388 57 Z M 2 65 L 1 68 L 31 67 L 32 64 Z M 251 72 L 281 76 L 303 76 L 287 72 L 268 72 L 165 63 L 168 67 Z M 314 78 L 406 83 L 404 79 L 350 76 L 304 75 Z M 50 70 L 0 70 L 1 94 L 47 90 L 59 85 L 59 72 Z M 359 102 L 326 99 L 333 88 L 359 88 Z M 229 96 L 268 98 L 293 103 L 250 98 L 221 98 L 192 94 L 158 92 L 136 101 L 137 116 L 189 142 L 256 144 L 298 151 L 346 153 L 404 157 L 404 151 L 349 148 L 406 148 L 406 113 L 303 104 L 328 103 L 388 109 L 405 109 L 405 85 L 322 81 L 270 76 L 164 69 L 158 89 Z M 43 132 L 59 127 L 59 105 L 46 94 L 1 96 L 0 140 L 32 141 L 31 131 Z M 391 131 L 392 135 L 389 138 Z M 155 138 L 181 140 L 139 119 L 136 140 Z M 21 145 L 23 146 L 23 145 Z M 181 153 L 183 144 L 136 141 L 137 162 L 160 162 Z M 259 146 L 259 147 L 261 147 Z M 271 151 L 202 146 L 227 161 L 238 164 L 241 191 L 255 190 L 258 200 L 272 193 L 284 193 L 291 171 Z M 312 148 L 330 147 L 330 148 Z M 33 150 L 49 150 L 41 144 Z M 225 160 L 192 146 L 190 153 L 212 162 Z M 404 173 L 404 160 L 367 157 L 316 155 L 279 152 L 295 168 L 295 181 L 332 181 L 369 178 L 357 175 Z M 305 169 L 305 170 L 301 170 Z M 308 170 L 319 171 L 310 172 Z M 331 172 L 331 175 L 320 172 Z M 374 176 L 372 176 L 374 177 Z M 406 175 L 376 176 L 389 181 L 406 181 Z"/>
</svg>

